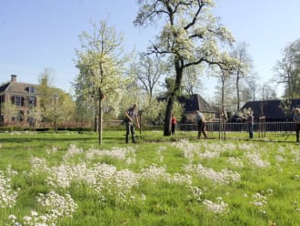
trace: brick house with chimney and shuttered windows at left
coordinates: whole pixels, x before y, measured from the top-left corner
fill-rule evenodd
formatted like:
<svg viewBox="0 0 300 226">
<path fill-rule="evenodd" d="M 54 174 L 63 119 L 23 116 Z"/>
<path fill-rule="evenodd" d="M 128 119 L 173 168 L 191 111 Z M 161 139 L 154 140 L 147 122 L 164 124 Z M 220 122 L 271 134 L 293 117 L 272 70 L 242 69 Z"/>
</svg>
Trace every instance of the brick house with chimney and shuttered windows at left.
<svg viewBox="0 0 300 226">
<path fill-rule="evenodd" d="M 32 127 L 34 123 L 33 118 L 28 117 L 28 113 L 30 108 L 39 106 L 38 85 L 17 82 L 16 77 L 11 75 L 9 82 L 0 85 L 0 127 L 9 125 Z M 15 105 L 16 116 L 7 118 L 1 113 L 1 107 L 5 102 Z"/>
</svg>

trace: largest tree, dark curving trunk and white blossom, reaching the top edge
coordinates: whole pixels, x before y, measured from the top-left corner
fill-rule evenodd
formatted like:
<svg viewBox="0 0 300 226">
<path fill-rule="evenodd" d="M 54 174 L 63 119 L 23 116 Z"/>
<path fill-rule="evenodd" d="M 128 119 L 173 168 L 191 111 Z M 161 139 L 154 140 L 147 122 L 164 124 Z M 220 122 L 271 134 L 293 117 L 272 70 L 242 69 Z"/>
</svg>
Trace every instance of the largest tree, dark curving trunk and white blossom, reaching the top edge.
<svg viewBox="0 0 300 226">
<path fill-rule="evenodd" d="M 202 63 L 219 65 L 227 54 L 219 51 L 220 43 L 234 41 L 231 33 L 211 14 L 213 0 L 139 0 L 135 26 L 147 26 L 161 19 L 162 30 L 149 51 L 169 56 L 175 69 L 175 86 L 169 92 L 165 110 L 164 135 L 171 135 L 171 114 L 180 92 L 184 69 Z"/>
</svg>

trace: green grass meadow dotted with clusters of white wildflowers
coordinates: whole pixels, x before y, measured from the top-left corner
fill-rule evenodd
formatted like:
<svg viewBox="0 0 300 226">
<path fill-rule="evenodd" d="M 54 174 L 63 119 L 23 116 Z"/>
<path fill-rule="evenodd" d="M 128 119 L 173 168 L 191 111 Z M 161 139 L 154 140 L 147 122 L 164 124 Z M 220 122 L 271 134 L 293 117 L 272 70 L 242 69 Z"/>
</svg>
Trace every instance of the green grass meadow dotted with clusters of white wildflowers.
<svg viewBox="0 0 300 226">
<path fill-rule="evenodd" d="M 300 225 L 300 145 L 162 134 L 1 133 L 0 225 Z"/>
</svg>

